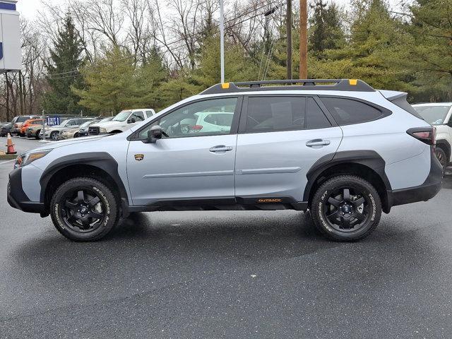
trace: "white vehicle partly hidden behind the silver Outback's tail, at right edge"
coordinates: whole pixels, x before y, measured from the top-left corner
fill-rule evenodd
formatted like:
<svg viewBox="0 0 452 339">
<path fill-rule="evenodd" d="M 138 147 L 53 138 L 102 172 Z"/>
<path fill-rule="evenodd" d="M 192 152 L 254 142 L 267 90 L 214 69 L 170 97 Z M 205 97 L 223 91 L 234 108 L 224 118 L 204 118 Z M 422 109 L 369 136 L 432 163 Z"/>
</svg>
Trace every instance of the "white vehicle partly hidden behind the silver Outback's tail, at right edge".
<svg viewBox="0 0 452 339">
<path fill-rule="evenodd" d="M 435 153 L 446 169 L 451 164 L 452 102 L 436 102 L 412 105 L 429 124 L 436 127 Z"/>
</svg>

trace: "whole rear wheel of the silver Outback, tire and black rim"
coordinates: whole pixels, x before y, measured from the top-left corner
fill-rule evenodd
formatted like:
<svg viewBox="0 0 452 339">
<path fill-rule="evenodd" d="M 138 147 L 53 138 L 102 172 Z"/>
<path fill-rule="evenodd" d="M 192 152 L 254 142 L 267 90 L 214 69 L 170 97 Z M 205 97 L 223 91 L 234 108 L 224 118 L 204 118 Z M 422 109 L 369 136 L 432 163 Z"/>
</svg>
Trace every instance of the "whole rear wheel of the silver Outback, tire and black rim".
<svg viewBox="0 0 452 339">
<path fill-rule="evenodd" d="M 381 199 L 366 180 L 355 175 L 328 179 L 311 201 L 311 218 L 329 239 L 352 242 L 367 237 L 381 218 Z"/>
</svg>

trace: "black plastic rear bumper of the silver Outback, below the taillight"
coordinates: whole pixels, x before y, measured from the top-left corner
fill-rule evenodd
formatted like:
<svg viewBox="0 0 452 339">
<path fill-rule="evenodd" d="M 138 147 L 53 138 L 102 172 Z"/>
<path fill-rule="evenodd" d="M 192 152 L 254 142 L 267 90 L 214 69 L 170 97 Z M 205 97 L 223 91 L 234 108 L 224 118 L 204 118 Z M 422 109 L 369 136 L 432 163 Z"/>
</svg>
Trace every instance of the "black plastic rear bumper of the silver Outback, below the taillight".
<svg viewBox="0 0 452 339">
<path fill-rule="evenodd" d="M 441 190 L 443 180 L 443 168 L 434 153 L 430 165 L 430 172 L 425 182 L 420 186 L 408 189 L 395 189 L 388 192 L 388 209 L 393 206 L 427 201 L 436 196 Z"/>
</svg>

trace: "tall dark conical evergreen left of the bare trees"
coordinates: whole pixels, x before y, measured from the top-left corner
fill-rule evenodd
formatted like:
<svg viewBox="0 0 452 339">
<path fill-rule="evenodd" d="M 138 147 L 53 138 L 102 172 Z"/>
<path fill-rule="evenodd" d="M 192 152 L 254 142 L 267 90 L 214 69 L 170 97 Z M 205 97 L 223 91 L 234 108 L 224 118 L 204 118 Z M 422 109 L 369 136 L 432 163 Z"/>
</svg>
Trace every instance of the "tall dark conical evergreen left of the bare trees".
<svg viewBox="0 0 452 339">
<path fill-rule="evenodd" d="M 82 88 L 79 69 L 83 64 L 83 47 L 73 20 L 68 14 L 50 49 L 52 62 L 46 64 L 49 90 L 44 94 L 42 109 L 49 114 L 78 114 L 80 97 L 71 88 Z"/>
</svg>

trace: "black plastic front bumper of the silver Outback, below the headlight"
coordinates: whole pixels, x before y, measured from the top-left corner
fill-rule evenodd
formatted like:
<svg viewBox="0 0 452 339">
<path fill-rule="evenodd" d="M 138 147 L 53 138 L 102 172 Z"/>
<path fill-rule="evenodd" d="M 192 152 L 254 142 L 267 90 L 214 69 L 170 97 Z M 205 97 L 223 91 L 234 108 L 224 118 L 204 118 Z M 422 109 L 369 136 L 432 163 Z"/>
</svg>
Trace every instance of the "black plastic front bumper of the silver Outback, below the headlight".
<svg viewBox="0 0 452 339">
<path fill-rule="evenodd" d="M 16 168 L 9 174 L 6 194 L 9 205 L 28 213 L 44 213 L 44 203 L 30 201 L 22 189 L 22 168 Z"/>
</svg>

